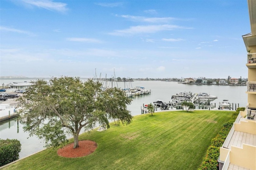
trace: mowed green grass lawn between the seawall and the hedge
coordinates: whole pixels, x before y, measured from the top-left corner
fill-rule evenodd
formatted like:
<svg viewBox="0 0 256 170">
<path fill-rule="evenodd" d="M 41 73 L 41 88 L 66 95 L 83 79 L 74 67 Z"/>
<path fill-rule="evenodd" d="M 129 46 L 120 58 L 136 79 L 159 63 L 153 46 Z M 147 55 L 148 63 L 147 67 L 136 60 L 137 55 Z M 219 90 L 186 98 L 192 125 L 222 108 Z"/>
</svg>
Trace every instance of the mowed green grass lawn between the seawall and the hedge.
<svg viewBox="0 0 256 170">
<path fill-rule="evenodd" d="M 135 116 L 128 126 L 80 135 L 98 144 L 81 158 L 58 156 L 49 148 L 3 169 L 172 169 L 199 168 L 211 139 L 230 119 L 230 111 L 170 111 Z M 72 142 L 72 140 L 70 141 Z"/>
</svg>

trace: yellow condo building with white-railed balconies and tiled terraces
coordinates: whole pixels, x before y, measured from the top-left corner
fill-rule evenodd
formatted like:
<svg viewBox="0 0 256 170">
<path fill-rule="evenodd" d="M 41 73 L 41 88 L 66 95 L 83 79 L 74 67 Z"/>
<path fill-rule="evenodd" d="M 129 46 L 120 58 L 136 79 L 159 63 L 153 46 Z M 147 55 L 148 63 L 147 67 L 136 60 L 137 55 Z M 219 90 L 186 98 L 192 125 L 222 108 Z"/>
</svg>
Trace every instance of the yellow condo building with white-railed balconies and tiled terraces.
<svg viewBox="0 0 256 170">
<path fill-rule="evenodd" d="M 220 147 L 219 170 L 256 170 L 256 0 L 247 2 L 251 33 L 242 36 L 248 52 L 247 106 Z"/>
</svg>

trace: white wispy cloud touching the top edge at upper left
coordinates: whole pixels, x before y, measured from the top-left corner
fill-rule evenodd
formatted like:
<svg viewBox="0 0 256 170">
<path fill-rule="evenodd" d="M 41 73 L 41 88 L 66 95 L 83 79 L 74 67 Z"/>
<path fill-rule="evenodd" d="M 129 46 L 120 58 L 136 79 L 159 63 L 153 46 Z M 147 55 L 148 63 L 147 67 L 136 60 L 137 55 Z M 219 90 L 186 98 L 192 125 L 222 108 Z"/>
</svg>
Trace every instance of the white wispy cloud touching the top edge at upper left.
<svg viewBox="0 0 256 170">
<path fill-rule="evenodd" d="M 51 0 L 23 0 L 23 2 L 39 8 L 48 9 L 50 11 L 66 12 L 68 10 L 68 8 L 66 8 L 67 4 L 62 2 L 52 2 Z"/>
</svg>

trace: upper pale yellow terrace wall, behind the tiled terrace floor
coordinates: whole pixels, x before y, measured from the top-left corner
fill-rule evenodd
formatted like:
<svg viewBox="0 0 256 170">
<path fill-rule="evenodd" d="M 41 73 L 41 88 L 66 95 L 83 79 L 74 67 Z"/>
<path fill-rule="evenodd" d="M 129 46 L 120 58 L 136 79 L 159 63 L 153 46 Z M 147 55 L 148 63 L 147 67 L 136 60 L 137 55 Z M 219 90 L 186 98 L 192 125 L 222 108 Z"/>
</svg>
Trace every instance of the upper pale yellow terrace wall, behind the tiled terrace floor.
<svg viewBox="0 0 256 170">
<path fill-rule="evenodd" d="M 240 123 L 234 123 L 234 125 L 236 131 L 256 134 L 256 121 L 241 121 Z"/>
</svg>

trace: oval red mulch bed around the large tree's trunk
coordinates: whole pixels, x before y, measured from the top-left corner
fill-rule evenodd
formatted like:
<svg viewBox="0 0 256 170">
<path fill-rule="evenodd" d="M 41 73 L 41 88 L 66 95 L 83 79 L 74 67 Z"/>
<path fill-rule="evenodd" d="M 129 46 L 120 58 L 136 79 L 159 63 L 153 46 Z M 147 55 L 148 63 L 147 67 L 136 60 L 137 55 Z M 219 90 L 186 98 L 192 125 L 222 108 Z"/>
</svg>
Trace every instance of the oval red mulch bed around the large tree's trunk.
<svg viewBox="0 0 256 170">
<path fill-rule="evenodd" d="M 77 158 L 89 155 L 95 151 L 97 144 L 94 141 L 78 141 L 79 147 L 73 148 L 74 143 L 59 148 L 58 155 L 66 158 Z"/>
</svg>

